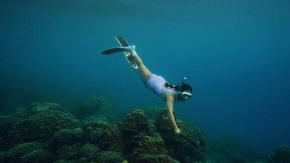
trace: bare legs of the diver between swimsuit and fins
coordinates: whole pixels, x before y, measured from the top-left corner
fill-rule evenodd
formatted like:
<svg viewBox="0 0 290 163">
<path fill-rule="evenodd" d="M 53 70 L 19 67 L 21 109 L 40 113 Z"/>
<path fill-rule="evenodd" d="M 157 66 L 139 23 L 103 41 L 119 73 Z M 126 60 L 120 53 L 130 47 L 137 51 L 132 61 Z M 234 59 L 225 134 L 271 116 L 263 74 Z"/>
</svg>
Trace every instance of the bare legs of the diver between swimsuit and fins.
<svg viewBox="0 0 290 163">
<path fill-rule="evenodd" d="M 144 84 L 146 84 L 147 79 L 152 75 L 150 70 L 143 64 L 142 59 L 138 56 L 134 49 L 131 49 L 132 56 L 138 66 L 139 74 Z"/>
</svg>

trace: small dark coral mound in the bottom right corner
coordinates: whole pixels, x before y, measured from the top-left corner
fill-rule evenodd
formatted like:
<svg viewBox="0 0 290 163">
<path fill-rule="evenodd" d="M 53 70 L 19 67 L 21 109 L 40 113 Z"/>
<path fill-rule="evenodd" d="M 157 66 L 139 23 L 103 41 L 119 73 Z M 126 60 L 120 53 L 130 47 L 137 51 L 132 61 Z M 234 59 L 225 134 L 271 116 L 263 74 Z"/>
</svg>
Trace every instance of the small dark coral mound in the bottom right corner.
<svg viewBox="0 0 290 163">
<path fill-rule="evenodd" d="M 286 145 L 275 148 L 273 152 L 268 155 L 268 161 L 270 163 L 290 162 L 290 148 Z"/>
</svg>

